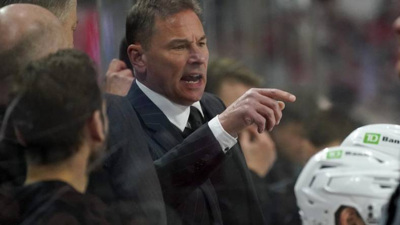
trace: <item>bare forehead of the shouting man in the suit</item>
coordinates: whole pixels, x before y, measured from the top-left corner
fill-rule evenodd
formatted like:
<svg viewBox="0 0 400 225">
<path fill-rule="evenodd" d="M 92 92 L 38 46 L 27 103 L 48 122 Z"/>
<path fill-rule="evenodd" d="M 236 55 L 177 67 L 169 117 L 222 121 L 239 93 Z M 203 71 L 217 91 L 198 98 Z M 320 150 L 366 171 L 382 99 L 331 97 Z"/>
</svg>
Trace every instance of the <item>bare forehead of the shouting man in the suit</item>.
<svg viewBox="0 0 400 225">
<path fill-rule="evenodd" d="M 185 10 L 171 16 L 155 18 L 154 34 L 163 37 L 204 36 L 203 24 L 192 10 Z"/>
</svg>

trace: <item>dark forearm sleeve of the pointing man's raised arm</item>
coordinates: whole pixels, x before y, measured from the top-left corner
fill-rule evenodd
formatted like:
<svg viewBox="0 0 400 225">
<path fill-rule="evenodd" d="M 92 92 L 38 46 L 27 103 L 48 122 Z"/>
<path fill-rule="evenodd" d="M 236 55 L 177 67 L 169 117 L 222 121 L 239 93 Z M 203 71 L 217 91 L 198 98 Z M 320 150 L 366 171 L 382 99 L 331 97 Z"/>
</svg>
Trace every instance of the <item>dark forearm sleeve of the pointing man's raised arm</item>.
<svg viewBox="0 0 400 225">
<path fill-rule="evenodd" d="M 226 156 L 210 127 L 205 124 L 198 128 L 154 161 L 165 201 L 179 205 L 224 159 Z"/>
</svg>

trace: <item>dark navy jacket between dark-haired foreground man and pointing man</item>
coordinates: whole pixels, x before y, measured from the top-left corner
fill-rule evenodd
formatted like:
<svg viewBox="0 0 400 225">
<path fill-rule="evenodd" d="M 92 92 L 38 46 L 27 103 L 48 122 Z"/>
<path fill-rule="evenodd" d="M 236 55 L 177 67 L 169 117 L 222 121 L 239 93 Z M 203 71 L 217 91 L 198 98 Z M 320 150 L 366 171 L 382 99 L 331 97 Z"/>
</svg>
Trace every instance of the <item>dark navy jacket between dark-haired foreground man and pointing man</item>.
<svg viewBox="0 0 400 225">
<path fill-rule="evenodd" d="M 107 203 L 129 205 L 149 224 L 166 224 L 160 183 L 136 111 L 126 97 L 108 94 L 106 101 L 108 157 L 103 169 L 91 174 L 88 191 Z"/>
</svg>

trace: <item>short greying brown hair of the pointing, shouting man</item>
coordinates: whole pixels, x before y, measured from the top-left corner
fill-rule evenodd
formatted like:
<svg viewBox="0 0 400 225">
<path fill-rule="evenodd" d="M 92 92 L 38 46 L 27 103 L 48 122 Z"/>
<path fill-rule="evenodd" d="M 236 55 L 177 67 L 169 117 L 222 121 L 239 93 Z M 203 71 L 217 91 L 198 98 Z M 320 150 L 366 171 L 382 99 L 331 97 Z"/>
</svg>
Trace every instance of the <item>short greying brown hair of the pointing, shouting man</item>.
<svg viewBox="0 0 400 225">
<path fill-rule="evenodd" d="M 202 9 L 196 0 L 138 0 L 126 17 L 127 44 L 139 42 L 148 49 L 156 17 L 163 19 L 184 10 L 192 10 L 202 19 Z"/>
</svg>

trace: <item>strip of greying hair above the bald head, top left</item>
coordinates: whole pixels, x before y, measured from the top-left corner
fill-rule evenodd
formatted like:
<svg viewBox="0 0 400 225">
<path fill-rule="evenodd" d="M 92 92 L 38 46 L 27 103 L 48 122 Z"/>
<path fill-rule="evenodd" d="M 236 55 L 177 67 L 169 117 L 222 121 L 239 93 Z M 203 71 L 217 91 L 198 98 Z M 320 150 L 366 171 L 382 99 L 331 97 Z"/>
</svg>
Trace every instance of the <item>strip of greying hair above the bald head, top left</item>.
<svg viewBox="0 0 400 225">
<path fill-rule="evenodd" d="M 11 4 L 34 4 L 52 12 L 62 23 L 65 22 L 74 0 L 0 0 L 0 8 Z"/>
</svg>

